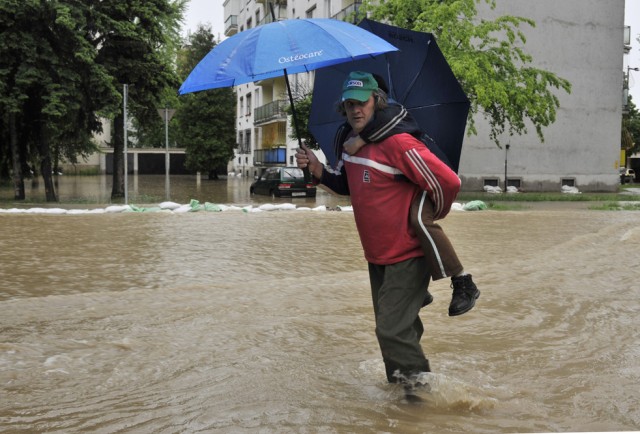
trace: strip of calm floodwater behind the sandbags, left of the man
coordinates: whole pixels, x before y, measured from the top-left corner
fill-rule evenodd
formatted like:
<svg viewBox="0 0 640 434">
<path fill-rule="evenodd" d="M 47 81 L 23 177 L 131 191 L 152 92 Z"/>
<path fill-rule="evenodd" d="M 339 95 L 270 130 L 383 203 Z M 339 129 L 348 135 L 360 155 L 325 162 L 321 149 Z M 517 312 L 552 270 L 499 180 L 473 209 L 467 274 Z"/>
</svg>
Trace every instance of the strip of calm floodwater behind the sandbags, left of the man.
<svg viewBox="0 0 640 434">
<path fill-rule="evenodd" d="M 200 202 L 221 204 L 262 204 L 291 202 L 291 198 L 271 198 L 268 196 L 251 195 L 249 186 L 253 182 L 248 178 L 223 178 L 217 181 L 195 175 L 172 175 L 169 181 L 169 197 L 166 194 L 165 177 L 160 175 L 129 176 L 128 198 L 131 204 L 157 204 L 171 200 L 181 204 L 189 203 L 191 199 Z M 55 188 L 58 200 L 63 203 L 105 204 L 111 202 L 111 176 L 57 176 Z M 26 196 L 29 202 L 44 202 L 44 183 L 38 180 L 25 184 Z M 5 201 L 13 198 L 10 186 L 0 188 L 0 199 Z M 119 199 L 119 203 L 124 203 Z M 321 189 L 316 198 L 295 198 L 293 203 L 300 206 L 349 204 L 348 198 L 330 195 Z"/>
</svg>

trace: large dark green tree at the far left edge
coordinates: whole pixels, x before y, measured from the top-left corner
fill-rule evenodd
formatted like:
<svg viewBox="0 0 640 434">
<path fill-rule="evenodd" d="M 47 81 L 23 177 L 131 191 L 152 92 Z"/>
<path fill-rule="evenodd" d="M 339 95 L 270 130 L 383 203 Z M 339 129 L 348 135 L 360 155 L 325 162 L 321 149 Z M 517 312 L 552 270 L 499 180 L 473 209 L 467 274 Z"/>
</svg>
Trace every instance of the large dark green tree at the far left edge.
<svg viewBox="0 0 640 434">
<path fill-rule="evenodd" d="M 114 95 L 83 31 L 87 11 L 69 1 L 0 3 L 0 136 L 9 143 L 18 200 L 31 168 L 42 174 L 47 201 L 57 200 L 57 158 L 74 161 L 92 150 L 96 113 Z"/>
</svg>

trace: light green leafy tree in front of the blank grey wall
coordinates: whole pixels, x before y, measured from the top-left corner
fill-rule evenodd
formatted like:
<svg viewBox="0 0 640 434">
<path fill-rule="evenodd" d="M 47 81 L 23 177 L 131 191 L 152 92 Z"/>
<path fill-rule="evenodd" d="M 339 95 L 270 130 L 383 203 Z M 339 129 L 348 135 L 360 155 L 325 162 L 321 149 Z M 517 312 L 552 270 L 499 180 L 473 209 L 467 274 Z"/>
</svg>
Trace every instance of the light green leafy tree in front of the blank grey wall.
<svg viewBox="0 0 640 434">
<path fill-rule="evenodd" d="M 530 121 L 540 140 L 543 127 L 556 119 L 559 100 L 552 89 L 571 91 L 571 84 L 552 72 L 531 66 L 523 46 L 522 25 L 535 22 L 515 16 L 478 20 L 476 4 L 495 0 L 365 0 L 373 19 L 433 33 L 455 76 L 471 101 L 469 133 L 476 133 L 473 115 L 482 113 L 490 138 L 527 133 Z"/>
</svg>

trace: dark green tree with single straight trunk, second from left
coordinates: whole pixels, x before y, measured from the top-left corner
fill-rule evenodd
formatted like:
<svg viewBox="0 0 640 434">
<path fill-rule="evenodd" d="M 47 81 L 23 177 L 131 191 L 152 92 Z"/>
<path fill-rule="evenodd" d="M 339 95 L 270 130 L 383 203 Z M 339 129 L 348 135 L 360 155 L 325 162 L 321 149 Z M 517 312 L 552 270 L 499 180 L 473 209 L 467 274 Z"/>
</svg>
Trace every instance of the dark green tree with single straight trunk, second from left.
<svg viewBox="0 0 640 434">
<path fill-rule="evenodd" d="M 167 88 L 179 85 L 172 53 L 179 38 L 186 0 L 91 0 L 96 62 L 119 89 L 128 85 L 127 108 L 138 125 L 160 124 L 157 109 Z M 115 109 L 115 107 L 111 107 Z M 111 197 L 124 196 L 124 116 L 113 120 L 113 188 Z"/>
</svg>

